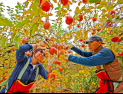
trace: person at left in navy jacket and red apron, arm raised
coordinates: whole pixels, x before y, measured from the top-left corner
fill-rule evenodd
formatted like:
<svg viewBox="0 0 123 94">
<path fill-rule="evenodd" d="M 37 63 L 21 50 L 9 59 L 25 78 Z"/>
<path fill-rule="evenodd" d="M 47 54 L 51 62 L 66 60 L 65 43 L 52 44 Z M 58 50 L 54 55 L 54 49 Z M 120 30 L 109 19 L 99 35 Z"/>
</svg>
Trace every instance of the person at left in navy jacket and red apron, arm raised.
<svg viewBox="0 0 123 94">
<path fill-rule="evenodd" d="M 40 47 L 41 46 L 44 45 L 40 45 Z M 9 77 L 7 86 L 5 86 L 0 93 L 29 93 L 29 89 L 33 85 L 32 82 L 36 80 L 37 75 L 41 75 L 44 79 L 47 79 L 48 73 L 51 72 L 51 65 L 55 60 L 55 56 L 48 60 L 48 67 L 47 70 L 45 70 L 42 64 L 39 63 L 45 56 L 44 49 L 40 47 L 37 44 L 25 43 L 24 45 L 20 45 L 19 49 L 16 49 L 17 64 Z M 33 52 L 31 57 L 25 55 L 27 51 Z M 27 67 L 23 72 L 22 70 L 26 64 Z"/>
</svg>

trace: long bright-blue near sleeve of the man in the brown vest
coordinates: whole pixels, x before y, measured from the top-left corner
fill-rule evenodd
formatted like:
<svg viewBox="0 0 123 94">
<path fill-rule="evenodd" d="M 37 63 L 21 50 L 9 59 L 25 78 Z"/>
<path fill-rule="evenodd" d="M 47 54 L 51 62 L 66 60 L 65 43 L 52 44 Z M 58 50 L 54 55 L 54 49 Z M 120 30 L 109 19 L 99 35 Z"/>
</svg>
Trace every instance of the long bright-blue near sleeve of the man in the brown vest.
<svg viewBox="0 0 123 94">
<path fill-rule="evenodd" d="M 114 54 L 109 49 L 101 49 L 90 57 L 77 57 L 69 55 L 68 60 L 85 66 L 98 66 L 114 61 Z"/>
</svg>

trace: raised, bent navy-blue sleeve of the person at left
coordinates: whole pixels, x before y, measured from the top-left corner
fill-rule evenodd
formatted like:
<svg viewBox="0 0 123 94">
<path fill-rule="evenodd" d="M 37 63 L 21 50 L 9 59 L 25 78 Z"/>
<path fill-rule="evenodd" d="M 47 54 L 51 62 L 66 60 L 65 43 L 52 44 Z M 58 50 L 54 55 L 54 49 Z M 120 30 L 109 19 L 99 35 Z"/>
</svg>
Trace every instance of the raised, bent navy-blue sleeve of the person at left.
<svg viewBox="0 0 123 94">
<path fill-rule="evenodd" d="M 20 45 L 19 49 L 16 49 L 16 60 L 17 63 L 20 63 L 24 60 L 25 56 L 25 52 L 27 51 L 32 51 L 33 50 L 33 46 L 30 45 L 29 43 L 26 43 L 24 45 Z"/>
</svg>

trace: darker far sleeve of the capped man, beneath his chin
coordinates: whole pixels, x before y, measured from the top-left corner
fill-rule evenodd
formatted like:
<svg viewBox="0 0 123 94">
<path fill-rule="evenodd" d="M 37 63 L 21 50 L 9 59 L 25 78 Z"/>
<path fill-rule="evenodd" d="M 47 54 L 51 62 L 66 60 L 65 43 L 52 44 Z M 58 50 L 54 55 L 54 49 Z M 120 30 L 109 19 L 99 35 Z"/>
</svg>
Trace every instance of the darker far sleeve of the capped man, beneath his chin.
<svg viewBox="0 0 123 94">
<path fill-rule="evenodd" d="M 77 47 L 72 47 L 71 50 L 73 50 L 74 52 L 76 52 L 76 53 L 78 53 L 79 55 L 84 56 L 84 57 L 92 56 L 92 52 L 82 51 L 82 50 L 80 50 L 80 49 L 77 48 Z"/>
</svg>

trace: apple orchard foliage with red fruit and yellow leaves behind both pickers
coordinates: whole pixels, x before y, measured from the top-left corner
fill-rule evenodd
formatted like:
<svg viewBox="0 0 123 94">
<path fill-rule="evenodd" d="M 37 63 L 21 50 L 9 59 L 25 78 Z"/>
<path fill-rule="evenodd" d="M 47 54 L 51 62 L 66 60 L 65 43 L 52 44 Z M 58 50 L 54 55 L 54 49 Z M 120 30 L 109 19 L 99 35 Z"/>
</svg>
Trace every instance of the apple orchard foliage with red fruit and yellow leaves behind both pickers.
<svg viewBox="0 0 123 94">
<path fill-rule="evenodd" d="M 71 15 L 73 4 L 77 6 Z M 15 53 L 19 45 L 38 43 L 43 39 L 49 47 L 40 63 L 46 68 L 48 53 L 57 55 L 51 66 L 53 79 L 38 76 L 30 90 L 32 93 L 92 93 L 96 90 L 99 80 L 95 76 L 95 67 L 63 58 L 66 51 L 79 56 L 64 49 L 65 45 L 74 44 L 89 51 L 83 41 L 92 35 L 103 38 L 104 47 L 117 55 L 123 67 L 123 0 L 26 0 L 23 4 L 18 2 L 15 9 L 7 6 L 10 19 L 4 17 L 3 11 L 5 6 L 0 3 L 0 82 L 11 75 L 17 63 Z M 50 19 L 52 16 L 56 19 Z M 66 29 L 62 28 L 63 22 Z M 25 54 L 30 56 L 29 52 Z"/>
</svg>

